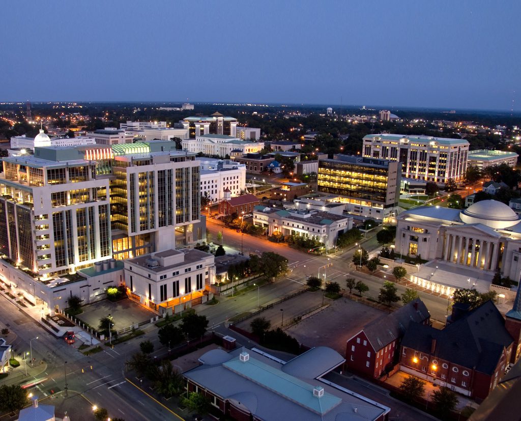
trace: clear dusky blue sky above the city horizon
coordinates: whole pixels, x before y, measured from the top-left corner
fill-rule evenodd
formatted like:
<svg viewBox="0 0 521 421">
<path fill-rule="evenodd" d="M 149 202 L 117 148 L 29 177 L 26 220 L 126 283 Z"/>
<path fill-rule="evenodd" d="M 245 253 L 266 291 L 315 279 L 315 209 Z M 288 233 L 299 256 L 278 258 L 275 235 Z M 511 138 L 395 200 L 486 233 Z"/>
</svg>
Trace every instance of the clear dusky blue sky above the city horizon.
<svg viewBox="0 0 521 421">
<path fill-rule="evenodd" d="M 519 0 L 6 0 L 0 14 L 0 102 L 521 110 Z"/>
</svg>

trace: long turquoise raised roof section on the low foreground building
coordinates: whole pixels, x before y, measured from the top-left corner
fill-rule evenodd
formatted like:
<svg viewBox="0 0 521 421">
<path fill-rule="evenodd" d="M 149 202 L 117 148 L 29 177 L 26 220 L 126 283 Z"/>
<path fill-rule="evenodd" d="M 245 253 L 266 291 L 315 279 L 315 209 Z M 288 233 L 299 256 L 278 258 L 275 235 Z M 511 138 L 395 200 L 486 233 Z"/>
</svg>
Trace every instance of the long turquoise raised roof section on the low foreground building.
<svg viewBox="0 0 521 421">
<path fill-rule="evenodd" d="M 327 392 L 324 392 L 324 395 L 320 398 L 313 396 L 312 385 L 253 358 L 241 361 L 239 357 L 236 357 L 222 365 L 235 374 L 249 379 L 257 385 L 265 387 L 317 414 L 324 415 L 342 403 L 342 399 Z"/>
</svg>

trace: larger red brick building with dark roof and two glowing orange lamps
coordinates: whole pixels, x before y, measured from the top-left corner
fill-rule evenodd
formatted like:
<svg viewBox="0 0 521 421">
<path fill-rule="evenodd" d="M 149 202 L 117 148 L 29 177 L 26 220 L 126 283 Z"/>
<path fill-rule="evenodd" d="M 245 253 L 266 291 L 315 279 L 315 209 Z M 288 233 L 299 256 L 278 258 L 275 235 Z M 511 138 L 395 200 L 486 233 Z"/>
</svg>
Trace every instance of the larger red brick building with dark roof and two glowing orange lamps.
<svg viewBox="0 0 521 421">
<path fill-rule="evenodd" d="M 409 325 L 400 366 L 404 372 L 483 400 L 505 373 L 512 345 L 505 320 L 492 301 L 472 311 L 455 304 L 451 324 L 443 330 Z"/>
</svg>

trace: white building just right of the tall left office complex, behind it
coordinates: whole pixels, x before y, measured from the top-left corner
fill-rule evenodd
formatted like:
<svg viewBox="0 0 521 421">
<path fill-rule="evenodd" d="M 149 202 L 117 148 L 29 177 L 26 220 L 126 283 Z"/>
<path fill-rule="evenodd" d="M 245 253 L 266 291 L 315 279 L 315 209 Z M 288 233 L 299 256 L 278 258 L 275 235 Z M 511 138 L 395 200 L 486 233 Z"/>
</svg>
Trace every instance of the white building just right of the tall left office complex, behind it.
<svg viewBox="0 0 521 421">
<path fill-rule="evenodd" d="M 201 195 L 212 203 L 225 198 L 228 187 L 231 196 L 240 196 L 246 189 L 246 165 L 231 160 L 200 158 Z"/>
</svg>

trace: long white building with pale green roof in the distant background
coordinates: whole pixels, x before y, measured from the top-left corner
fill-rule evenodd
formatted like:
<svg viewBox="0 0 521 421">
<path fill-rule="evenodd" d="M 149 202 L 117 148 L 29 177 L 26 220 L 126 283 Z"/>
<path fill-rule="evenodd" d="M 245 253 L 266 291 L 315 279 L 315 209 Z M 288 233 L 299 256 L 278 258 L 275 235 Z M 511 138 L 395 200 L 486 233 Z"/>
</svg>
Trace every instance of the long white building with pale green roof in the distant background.
<svg viewBox="0 0 521 421">
<path fill-rule="evenodd" d="M 231 157 L 234 152 L 238 152 L 239 155 L 255 154 L 264 147 L 261 142 L 241 141 L 237 137 L 224 134 L 204 134 L 195 138 L 185 138 L 181 145 L 189 152 L 202 152 L 220 158 Z"/>
</svg>

